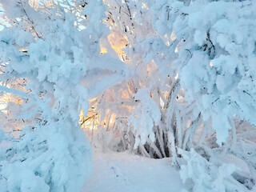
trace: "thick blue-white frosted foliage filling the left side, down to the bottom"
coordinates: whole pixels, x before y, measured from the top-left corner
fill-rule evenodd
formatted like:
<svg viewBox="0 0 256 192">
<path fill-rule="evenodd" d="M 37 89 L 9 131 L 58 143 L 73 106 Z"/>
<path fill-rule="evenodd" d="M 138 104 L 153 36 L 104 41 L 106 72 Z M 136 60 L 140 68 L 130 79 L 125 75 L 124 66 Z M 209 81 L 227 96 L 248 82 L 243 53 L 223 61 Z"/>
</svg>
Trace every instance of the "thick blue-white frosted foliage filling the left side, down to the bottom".
<svg viewBox="0 0 256 192">
<path fill-rule="evenodd" d="M 0 58 L 8 64 L 0 76 L 0 90 L 21 97 L 22 111 L 15 118 L 30 120 L 18 138 L 5 138 L 1 132 L 0 139 L 7 142 L 0 156 L 1 191 L 79 191 L 90 175 L 92 151 L 78 124 L 80 111 L 88 110 L 88 90 L 82 81 L 88 66 L 111 70 L 107 56 L 102 62 L 98 45 L 98 38 L 108 31 L 100 14 L 106 6 L 91 2 L 88 16 L 98 17 L 92 15 L 87 29 L 79 30 L 74 25 L 78 10 L 71 14 L 63 5 L 53 4 L 42 9 L 47 11 L 35 11 L 28 1 L 16 5 L 1 1 L 11 26 L 1 31 Z M 10 6 L 16 7 L 15 14 Z M 68 6 L 74 8 L 68 3 L 65 9 Z M 12 23 L 14 17 L 18 22 Z M 123 77 L 124 70 L 118 67 Z M 28 79 L 23 90 L 8 85 L 10 79 L 18 78 Z M 105 87 L 111 83 L 110 78 Z"/>
</svg>

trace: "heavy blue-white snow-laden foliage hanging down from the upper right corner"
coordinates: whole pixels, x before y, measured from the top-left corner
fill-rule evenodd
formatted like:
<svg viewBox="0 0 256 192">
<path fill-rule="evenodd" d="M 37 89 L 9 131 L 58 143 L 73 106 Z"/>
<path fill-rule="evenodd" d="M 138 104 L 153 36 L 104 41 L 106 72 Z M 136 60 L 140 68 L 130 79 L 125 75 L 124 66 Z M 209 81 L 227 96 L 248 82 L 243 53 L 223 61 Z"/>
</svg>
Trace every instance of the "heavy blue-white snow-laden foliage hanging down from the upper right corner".
<svg viewBox="0 0 256 192">
<path fill-rule="evenodd" d="M 178 70 L 185 99 L 196 102 L 204 121 L 213 122 L 218 144 L 226 141 L 234 114 L 255 126 L 255 2 L 166 6 L 171 7 L 166 33 L 173 31 L 178 41 L 171 66 Z"/>
</svg>

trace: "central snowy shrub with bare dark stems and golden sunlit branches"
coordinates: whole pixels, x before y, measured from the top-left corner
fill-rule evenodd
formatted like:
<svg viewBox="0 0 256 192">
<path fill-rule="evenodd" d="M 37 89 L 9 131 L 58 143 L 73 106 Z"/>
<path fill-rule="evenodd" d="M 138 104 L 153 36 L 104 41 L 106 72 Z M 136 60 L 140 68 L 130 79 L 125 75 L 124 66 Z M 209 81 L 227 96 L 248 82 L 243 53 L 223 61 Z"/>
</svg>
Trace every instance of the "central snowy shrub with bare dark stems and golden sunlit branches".
<svg viewBox="0 0 256 192">
<path fill-rule="evenodd" d="M 135 153 L 147 157 L 163 158 L 176 154 L 175 146 L 186 148 L 187 142 L 192 142 L 201 116 L 193 104 L 188 106 L 183 99 L 178 73 L 170 66 L 177 58 L 174 50 L 178 42 L 174 34 L 158 31 L 162 28 L 154 14 L 162 3 L 153 2 L 106 2 L 105 23 L 111 32 L 109 42 L 102 40 L 101 46 L 113 57 L 120 56 L 130 74 L 90 102 L 94 112 L 82 123 L 90 122 L 90 126 L 99 129 L 86 131 L 95 146 L 97 142 L 98 147 L 135 149 Z M 194 128 L 187 130 L 189 121 Z M 102 136 L 98 135 L 102 129 L 112 133 L 112 138 L 107 134 L 105 144 L 100 144 Z"/>
</svg>

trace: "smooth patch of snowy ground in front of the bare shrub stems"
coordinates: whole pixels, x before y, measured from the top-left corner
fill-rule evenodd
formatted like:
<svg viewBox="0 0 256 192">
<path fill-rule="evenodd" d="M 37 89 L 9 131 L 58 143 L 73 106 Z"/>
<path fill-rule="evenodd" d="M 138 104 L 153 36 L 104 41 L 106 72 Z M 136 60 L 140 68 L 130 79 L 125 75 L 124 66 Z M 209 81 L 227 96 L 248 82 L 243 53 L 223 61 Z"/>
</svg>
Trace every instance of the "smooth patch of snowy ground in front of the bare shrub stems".
<svg viewBox="0 0 256 192">
<path fill-rule="evenodd" d="M 182 192 L 170 158 L 150 159 L 128 153 L 94 154 L 93 173 L 82 192 Z"/>
</svg>

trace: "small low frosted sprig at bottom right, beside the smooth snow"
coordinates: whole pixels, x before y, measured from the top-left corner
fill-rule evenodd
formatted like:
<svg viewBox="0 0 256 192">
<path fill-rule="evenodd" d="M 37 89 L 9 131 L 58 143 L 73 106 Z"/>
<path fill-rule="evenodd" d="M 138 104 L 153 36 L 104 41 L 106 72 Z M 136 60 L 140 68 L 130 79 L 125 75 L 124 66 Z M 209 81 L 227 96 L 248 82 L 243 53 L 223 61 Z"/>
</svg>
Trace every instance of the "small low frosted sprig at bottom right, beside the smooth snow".
<svg viewBox="0 0 256 192">
<path fill-rule="evenodd" d="M 194 182 L 193 191 L 249 191 L 232 178 L 231 174 L 238 169 L 234 164 L 218 164 L 214 159 L 208 162 L 193 148 L 190 151 L 178 150 L 178 153 L 186 160 L 180 170 L 182 182 L 191 179 Z"/>
</svg>

